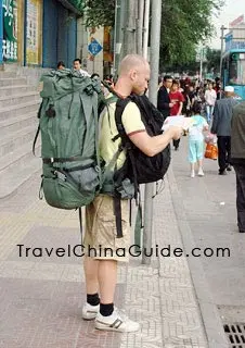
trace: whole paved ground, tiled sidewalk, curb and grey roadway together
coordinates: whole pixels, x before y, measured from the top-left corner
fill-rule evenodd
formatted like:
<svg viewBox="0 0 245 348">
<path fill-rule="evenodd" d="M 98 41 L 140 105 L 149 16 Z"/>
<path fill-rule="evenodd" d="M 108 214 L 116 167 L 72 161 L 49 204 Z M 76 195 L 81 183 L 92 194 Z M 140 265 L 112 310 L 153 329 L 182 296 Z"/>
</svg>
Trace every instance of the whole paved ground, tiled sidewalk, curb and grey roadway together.
<svg viewBox="0 0 245 348">
<path fill-rule="evenodd" d="M 78 213 L 40 201 L 40 176 L 35 174 L 0 200 L 0 347 L 229 347 L 222 323 L 244 318 L 245 295 L 245 236 L 236 229 L 235 176 L 219 176 L 217 161 L 205 160 L 205 177 L 191 178 L 186 153 L 183 137 L 154 200 L 153 246 L 182 247 L 190 253 L 193 236 L 201 250 L 225 247 L 231 257 L 159 254 L 150 266 L 131 258 L 128 266 L 119 266 L 115 302 L 140 322 L 141 331 L 95 331 L 93 322 L 81 320 L 82 258 L 68 253 L 69 246 L 80 243 Z M 55 253 L 57 248 L 65 254 Z"/>
</svg>

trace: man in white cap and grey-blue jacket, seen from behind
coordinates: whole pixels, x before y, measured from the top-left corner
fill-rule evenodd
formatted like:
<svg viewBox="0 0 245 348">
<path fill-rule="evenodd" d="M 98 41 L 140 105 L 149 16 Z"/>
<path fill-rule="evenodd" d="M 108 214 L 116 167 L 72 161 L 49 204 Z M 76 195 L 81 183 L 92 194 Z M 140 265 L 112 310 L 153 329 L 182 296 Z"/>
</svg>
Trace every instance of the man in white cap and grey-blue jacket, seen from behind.
<svg viewBox="0 0 245 348">
<path fill-rule="evenodd" d="M 218 137 L 219 175 L 227 175 L 231 171 L 231 119 L 232 109 L 237 103 L 234 87 L 224 88 L 224 99 L 217 100 L 214 110 L 211 133 Z"/>
</svg>

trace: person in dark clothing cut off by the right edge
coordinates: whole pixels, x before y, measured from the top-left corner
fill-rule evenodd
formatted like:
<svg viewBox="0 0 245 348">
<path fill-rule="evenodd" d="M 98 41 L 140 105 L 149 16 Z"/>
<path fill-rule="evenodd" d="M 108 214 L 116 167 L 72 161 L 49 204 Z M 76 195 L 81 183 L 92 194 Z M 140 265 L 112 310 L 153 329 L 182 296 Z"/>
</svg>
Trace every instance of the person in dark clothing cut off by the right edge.
<svg viewBox="0 0 245 348">
<path fill-rule="evenodd" d="M 237 225 L 238 231 L 245 233 L 245 102 L 233 109 L 231 161 L 236 174 Z"/>
</svg>

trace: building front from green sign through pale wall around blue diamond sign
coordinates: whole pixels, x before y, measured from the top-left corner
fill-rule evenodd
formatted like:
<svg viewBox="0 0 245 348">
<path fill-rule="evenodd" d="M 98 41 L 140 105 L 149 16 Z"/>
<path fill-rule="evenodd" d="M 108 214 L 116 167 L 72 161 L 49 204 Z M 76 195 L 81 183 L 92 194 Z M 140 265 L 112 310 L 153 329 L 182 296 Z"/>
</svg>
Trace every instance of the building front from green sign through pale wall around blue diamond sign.
<svg viewBox="0 0 245 348">
<path fill-rule="evenodd" d="M 113 30 L 87 28 L 80 3 L 80 0 L 0 0 L 0 65 L 54 69 L 63 61 L 66 67 L 72 67 L 73 60 L 80 58 L 82 69 L 90 74 L 96 72 L 101 77 L 109 74 Z M 95 55 L 88 50 L 93 39 L 102 46 Z"/>
</svg>

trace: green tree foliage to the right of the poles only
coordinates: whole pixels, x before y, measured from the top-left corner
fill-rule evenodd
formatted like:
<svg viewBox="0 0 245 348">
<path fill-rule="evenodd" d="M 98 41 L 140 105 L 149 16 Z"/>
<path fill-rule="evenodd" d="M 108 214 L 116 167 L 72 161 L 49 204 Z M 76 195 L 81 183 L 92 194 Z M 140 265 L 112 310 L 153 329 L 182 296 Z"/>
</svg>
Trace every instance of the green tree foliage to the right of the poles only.
<svg viewBox="0 0 245 348">
<path fill-rule="evenodd" d="M 222 0 L 165 0 L 162 20 L 160 63 L 192 61 L 198 42 L 215 34 L 211 14 Z"/>
</svg>

